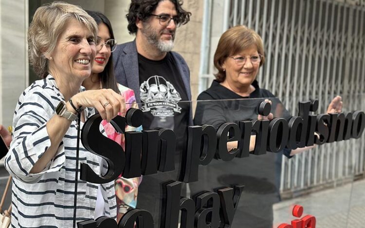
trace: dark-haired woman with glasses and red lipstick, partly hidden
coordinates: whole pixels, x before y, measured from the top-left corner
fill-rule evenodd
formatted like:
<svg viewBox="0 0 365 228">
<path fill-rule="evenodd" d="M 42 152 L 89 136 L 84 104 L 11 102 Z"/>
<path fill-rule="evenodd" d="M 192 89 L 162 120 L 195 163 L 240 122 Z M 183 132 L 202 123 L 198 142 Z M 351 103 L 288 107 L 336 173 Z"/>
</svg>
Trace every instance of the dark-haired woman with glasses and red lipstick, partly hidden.
<svg viewBox="0 0 365 228">
<path fill-rule="evenodd" d="M 116 48 L 113 29 L 109 19 L 100 12 L 86 11 L 98 25 L 98 34 L 96 38 L 96 55 L 91 69 L 91 76 L 83 82 L 83 86 L 87 90 L 111 88 L 115 92 L 124 96 L 127 110 L 131 107 L 138 108 L 136 99 L 132 89 L 116 83 L 113 73 L 112 52 Z M 124 115 L 125 113 L 119 113 Z M 102 122 L 105 134 L 108 138 L 118 142 L 123 149 L 125 148 L 125 139 L 123 134 L 117 133 L 112 125 L 106 121 Z M 141 130 L 135 127 L 126 126 L 126 131 Z M 127 212 L 129 208 L 135 208 L 137 204 L 138 186 L 141 183 L 142 177 L 126 179 L 119 176 L 115 181 L 115 194 L 117 199 L 117 221 Z M 101 193 L 99 189 L 99 194 Z M 101 197 L 98 197 L 102 199 Z M 95 208 L 95 218 L 104 215 L 103 202 L 97 202 Z"/>
</svg>

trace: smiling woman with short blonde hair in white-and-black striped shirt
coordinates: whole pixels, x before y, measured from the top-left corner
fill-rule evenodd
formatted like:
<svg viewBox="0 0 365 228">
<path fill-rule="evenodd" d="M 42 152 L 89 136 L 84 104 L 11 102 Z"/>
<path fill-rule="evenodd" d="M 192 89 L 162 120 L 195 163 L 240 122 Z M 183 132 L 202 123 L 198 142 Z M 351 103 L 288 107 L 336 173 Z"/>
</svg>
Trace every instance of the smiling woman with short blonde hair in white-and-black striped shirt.
<svg viewBox="0 0 365 228">
<path fill-rule="evenodd" d="M 30 24 L 29 60 L 42 79 L 19 97 L 5 158 L 14 177 L 12 227 L 69 228 L 74 211 L 76 221 L 94 219 L 99 188 L 102 214 L 116 218 L 113 181 L 97 185 L 80 180 L 75 186 L 78 114 L 82 127 L 94 109 L 108 122 L 126 111 L 124 98 L 112 89 L 81 87 L 91 75 L 96 35 L 94 19 L 64 2 L 39 7 Z M 99 157 L 79 144 L 80 161 L 103 173 Z"/>
</svg>

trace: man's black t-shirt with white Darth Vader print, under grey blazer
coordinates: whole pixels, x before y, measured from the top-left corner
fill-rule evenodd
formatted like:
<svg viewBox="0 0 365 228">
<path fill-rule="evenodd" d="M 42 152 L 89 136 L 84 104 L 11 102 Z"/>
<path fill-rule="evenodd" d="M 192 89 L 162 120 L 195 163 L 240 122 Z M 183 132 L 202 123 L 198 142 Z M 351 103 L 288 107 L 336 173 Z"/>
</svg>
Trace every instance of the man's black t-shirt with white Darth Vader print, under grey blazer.
<svg viewBox="0 0 365 228">
<path fill-rule="evenodd" d="M 138 54 L 143 129 L 169 128 L 176 134 L 176 152 L 186 144 L 190 104 L 174 57 L 153 61 Z M 185 102 L 183 102 L 185 101 Z"/>
</svg>

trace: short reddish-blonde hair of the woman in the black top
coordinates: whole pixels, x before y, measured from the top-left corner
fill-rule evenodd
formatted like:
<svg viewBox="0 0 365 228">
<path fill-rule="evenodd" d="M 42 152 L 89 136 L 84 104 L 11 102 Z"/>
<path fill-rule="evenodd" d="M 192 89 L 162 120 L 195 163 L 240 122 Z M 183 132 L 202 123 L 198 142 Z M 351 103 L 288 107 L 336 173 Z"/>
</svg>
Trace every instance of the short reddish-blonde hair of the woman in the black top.
<svg viewBox="0 0 365 228">
<path fill-rule="evenodd" d="M 260 35 L 244 25 L 237 25 L 225 31 L 220 36 L 214 54 L 214 66 L 218 70 L 218 73 L 215 74 L 217 81 L 223 82 L 226 78 L 226 73 L 222 68 L 224 60 L 228 56 L 240 53 L 253 45 L 257 47 L 257 52 L 262 56 L 260 62 L 260 66 L 262 66 L 265 63 L 265 53 Z"/>
</svg>

